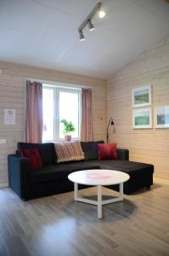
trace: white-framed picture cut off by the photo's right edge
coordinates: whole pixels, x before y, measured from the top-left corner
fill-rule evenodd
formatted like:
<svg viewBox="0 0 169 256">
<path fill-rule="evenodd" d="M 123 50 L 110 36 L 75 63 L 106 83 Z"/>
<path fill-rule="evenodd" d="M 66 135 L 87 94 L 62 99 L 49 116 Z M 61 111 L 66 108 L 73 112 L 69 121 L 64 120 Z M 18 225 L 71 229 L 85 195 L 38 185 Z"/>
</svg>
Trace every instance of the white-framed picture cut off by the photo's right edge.
<svg viewBox="0 0 169 256">
<path fill-rule="evenodd" d="M 169 128 L 169 106 L 155 108 L 155 128 Z"/>
</svg>

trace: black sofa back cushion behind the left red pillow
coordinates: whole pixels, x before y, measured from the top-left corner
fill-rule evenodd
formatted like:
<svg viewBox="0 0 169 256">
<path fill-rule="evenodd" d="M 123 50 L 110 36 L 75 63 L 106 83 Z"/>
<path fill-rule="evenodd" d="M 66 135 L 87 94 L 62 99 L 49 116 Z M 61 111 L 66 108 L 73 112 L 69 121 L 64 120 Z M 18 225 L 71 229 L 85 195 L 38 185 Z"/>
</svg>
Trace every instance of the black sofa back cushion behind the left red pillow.
<svg viewBox="0 0 169 256">
<path fill-rule="evenodd" d="M 41 155 L 42 165 L 54 165 L 56 163 L 54 143 L 18 143 L 18 154 L 21 154 L 21 149 L 24 148 L 37 148 Z"/>
</svg>

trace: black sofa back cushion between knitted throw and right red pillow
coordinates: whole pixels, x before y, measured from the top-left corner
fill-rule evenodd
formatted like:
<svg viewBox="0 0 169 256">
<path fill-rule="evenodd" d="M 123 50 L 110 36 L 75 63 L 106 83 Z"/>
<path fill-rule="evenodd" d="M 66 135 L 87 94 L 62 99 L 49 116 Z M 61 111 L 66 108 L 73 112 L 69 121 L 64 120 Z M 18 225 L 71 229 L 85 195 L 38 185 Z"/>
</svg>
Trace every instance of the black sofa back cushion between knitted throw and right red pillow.
<svg viewBox="0 0 169 256">
<path fill-rule="evenodd" d="M 96 160 L 99 158 L 99 143 L 104 143 L 104 141 L 81 142 L 82 150 L 85 154 L 85 160 Z"/>
</svg>

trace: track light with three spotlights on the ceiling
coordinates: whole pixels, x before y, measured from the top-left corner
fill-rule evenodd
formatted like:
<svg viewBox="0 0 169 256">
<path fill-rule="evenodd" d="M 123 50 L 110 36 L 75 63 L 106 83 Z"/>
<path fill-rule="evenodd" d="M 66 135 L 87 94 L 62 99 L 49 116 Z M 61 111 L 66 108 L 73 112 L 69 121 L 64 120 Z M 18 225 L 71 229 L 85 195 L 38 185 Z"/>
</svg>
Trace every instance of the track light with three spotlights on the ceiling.
<svg viewBox="0 0 169 256">
<path fill-rule="evenodd" d="M 84 38 L 84 35 L 82 33 L 82 30 L 85 26 L 87 26 L 88 24 L 88 29 L 90 31 L 93 31 L 94 30 L 94 26 L 93 26 L 93 23 L 92 23 L 92 19 L 93 19 L 93 16 L 96 15 L 96 13 L 99 12 L 99 17 L 100 18 L 104 18 L 105 16 L 105 12 L 103 9 L 101 9 L 102 7 L 102 3 L 97 3 L 96 6 L 93 8 L 93 10 L 91 11 L 91 13 L 89 15 L 87 15 L 87 18 L 85 20 L 83 20 L 81 26 L 79 26 L 78 28 L 78 32 L 79 32 L 79 36 L 80 36 L 80 40 L 83 41 L 85 40 Z"/>
</svg>

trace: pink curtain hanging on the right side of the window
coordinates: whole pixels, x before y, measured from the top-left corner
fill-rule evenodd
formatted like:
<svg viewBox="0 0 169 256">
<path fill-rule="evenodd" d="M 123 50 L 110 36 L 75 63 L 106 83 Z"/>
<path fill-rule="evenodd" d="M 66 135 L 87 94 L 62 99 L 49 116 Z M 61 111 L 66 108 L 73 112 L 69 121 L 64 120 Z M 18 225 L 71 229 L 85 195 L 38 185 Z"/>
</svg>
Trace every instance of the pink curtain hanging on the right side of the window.
<svg viewBox="0 0 169 256">
<path fill-rule="evenodd" d="M 93 141 L 92 89 L 82 89 L 81 141 Z"/>
</svg>

